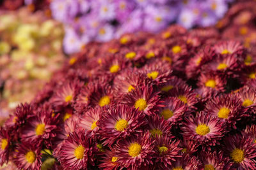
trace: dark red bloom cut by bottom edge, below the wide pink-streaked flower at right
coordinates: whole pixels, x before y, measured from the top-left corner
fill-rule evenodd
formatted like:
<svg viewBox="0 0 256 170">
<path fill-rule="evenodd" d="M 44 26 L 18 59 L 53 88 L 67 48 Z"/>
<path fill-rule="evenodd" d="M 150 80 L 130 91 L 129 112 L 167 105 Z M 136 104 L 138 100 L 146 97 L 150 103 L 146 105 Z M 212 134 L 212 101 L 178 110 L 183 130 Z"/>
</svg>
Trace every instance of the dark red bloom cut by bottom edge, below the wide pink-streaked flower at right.
<svg viewBox="0 0 256 170">
<path fill-rule="evenodd" d="M 229 159 L 223 157 L 222 152 L 200 152 L 198 158 L 202 161 L 205 170 L 230 169 L 231 166 Z"/>
</svg>

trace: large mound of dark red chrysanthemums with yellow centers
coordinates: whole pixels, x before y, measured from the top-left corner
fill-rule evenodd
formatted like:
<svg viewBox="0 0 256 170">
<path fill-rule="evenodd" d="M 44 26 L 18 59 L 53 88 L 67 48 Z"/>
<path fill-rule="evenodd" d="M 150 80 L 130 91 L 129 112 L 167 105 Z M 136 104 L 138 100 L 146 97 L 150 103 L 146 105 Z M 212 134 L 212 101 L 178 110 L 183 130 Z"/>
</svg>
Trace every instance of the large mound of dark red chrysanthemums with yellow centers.
<svg viewBox="0 0 256 170">
<path fill-rule="evenodd" d="M 256 56 L 224 32 L 172 25 L 89 43 L 1 127 L 0 164 L 256 169 Z"/>
</svg>

